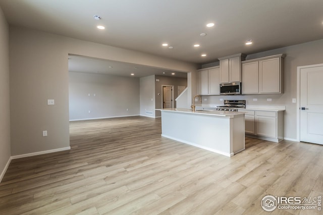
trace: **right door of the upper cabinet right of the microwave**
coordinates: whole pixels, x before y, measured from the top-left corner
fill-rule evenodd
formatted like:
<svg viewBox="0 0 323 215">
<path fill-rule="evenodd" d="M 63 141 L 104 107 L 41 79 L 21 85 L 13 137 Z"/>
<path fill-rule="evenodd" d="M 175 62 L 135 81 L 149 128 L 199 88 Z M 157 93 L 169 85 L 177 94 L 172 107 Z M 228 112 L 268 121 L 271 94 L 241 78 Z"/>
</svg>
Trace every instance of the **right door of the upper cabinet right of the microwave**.
<svg viewBox="0 0 323 215">
<path fill-rule="evenodd" d="M 280 57 L 259 61 L 259 93 L 281 93 Z"/>
</svg>

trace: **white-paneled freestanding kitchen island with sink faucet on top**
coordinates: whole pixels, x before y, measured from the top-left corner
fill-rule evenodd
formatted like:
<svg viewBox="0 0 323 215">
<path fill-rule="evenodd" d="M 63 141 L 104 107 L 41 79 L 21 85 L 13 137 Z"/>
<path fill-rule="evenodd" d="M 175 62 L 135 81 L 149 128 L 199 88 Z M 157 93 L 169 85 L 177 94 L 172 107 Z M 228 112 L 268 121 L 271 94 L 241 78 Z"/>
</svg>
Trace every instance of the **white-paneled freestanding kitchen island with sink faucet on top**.
<svg viewBox="0 0 323 215">
<path fill-rule="evenodd" d="M 244 113 L 166 108 L 161 135 L 228 157 L 245 149 Z"/>
</svg>

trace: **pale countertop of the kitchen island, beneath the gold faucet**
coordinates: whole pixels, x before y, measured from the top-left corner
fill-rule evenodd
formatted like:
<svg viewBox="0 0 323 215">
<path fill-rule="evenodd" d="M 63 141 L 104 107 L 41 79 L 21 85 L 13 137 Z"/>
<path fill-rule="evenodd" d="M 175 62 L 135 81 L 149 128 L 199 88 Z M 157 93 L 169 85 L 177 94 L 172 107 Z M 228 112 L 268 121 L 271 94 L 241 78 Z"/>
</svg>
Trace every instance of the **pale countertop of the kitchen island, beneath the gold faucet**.
<svg viewBox="0 0 323 215">
<path fill-rule="evenodd" d="M 191 110 L 186 108 L 164 108 L 159 109 L 160 111 L 174 111 L 179 113 L 191 113 L 191 114 L 202 114 L 202 115 L 211 115 L 211 116 L 223 116 L 223 117 L 234 117 L 236 115 L 244 114 L 243 112 L 233 112 L 233 111 L 220 111 L 220 110 Z"/>
</svg>

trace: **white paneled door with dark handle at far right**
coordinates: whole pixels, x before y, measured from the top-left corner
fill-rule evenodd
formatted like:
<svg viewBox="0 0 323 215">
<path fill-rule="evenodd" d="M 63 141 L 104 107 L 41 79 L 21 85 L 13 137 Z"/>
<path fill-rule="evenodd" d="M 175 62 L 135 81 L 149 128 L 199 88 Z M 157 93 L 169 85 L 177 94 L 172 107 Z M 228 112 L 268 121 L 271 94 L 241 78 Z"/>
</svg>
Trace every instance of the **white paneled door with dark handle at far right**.
<svg viewBox="0 0 323 215">
<path fill-rule="evenodd" d="M 300 70 L 300 140 L 323 145 L 323 66 Z"/>
</svg>

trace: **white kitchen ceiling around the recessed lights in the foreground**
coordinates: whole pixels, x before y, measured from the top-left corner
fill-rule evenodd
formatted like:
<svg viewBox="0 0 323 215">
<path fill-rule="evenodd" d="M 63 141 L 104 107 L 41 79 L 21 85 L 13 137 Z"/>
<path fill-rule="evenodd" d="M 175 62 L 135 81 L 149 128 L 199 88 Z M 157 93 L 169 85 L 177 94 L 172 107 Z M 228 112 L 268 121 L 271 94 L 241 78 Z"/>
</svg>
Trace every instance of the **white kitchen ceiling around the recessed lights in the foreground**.
<svg viewBox="0 0 323 215">
<path fill-rule="evenodd" d="M 198 64 L 323 38 L 322 0 L 0 0 L 0 7 L 11 25 Z"/>
</svg>

